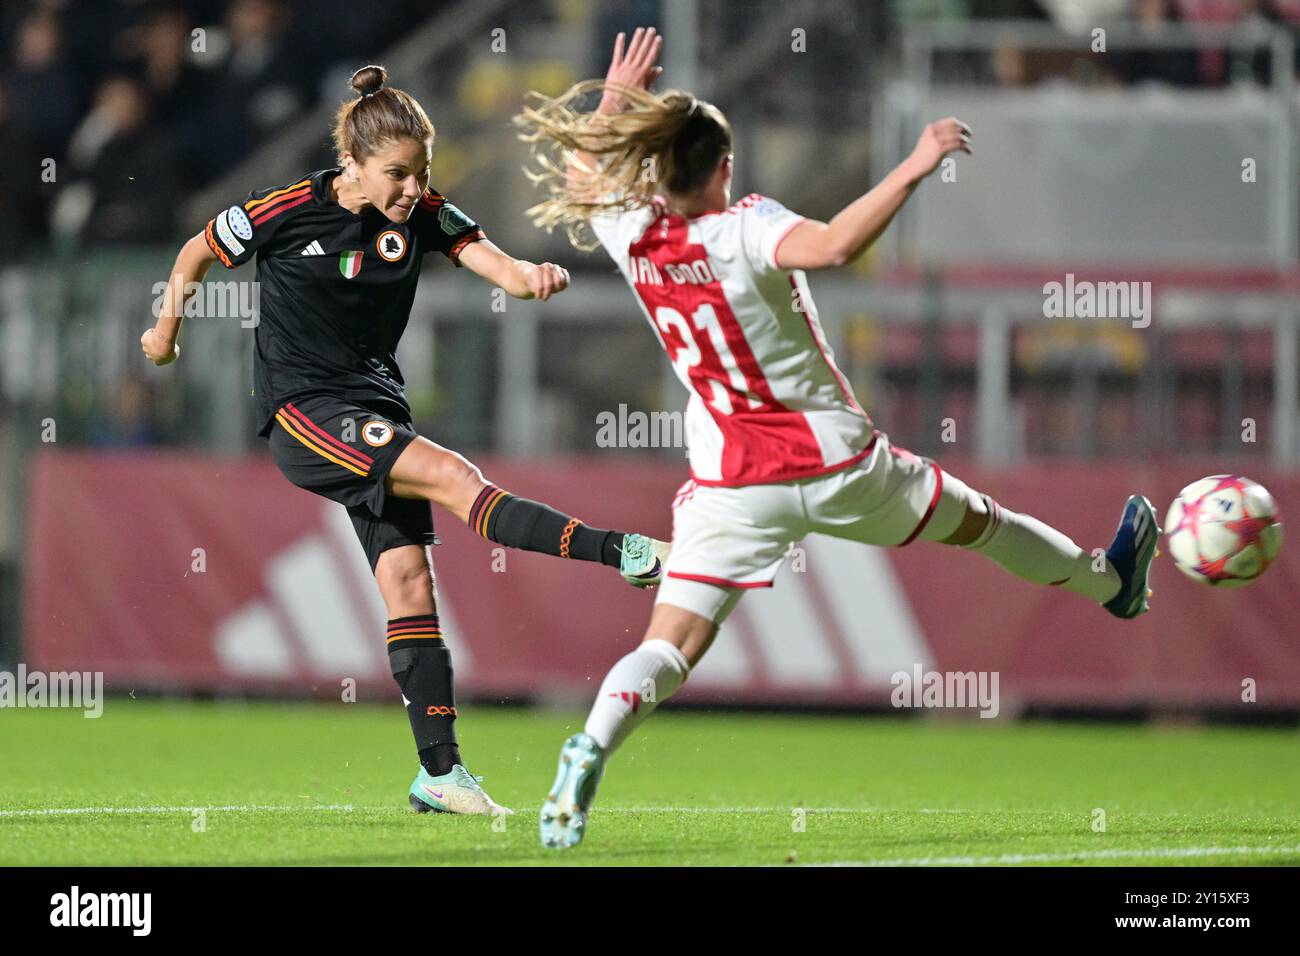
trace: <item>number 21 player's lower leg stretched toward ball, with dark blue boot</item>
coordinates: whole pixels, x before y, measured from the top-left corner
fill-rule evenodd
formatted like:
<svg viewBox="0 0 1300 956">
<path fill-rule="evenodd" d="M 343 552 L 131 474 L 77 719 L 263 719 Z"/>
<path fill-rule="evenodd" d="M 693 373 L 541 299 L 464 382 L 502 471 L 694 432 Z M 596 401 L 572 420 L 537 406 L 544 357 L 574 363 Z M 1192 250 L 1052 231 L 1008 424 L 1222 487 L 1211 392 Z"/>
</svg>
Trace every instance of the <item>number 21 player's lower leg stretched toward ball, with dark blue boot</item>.
<svg viewBox="0 0 1300 956">
<path fill-rule="evenodd" d="M 1056 528 L 1010 511 L 942 472 L 935 514 L 920 537 L 983 554 L 1035 584 L 1092 598 L 1119 618 L 1148 610 L 1148 574 L 1160 527 L 1150 502 L 1132 496 L 1106 554 L 1093 557 Z"/>
</svg>

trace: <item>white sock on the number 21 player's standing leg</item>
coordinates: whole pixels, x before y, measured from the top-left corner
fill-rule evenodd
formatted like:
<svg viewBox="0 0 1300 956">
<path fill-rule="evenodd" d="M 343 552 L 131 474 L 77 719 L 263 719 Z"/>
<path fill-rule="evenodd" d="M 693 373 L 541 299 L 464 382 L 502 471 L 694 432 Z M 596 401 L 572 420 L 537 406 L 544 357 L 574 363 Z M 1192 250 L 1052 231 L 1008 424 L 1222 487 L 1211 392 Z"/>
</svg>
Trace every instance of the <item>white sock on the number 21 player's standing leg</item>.
<svg viewBox="0 0 1300 956">
<path fill-rule="evenodd" d="M 649 640 L 619 661 L 601 683 L 586 732 L 608 754 L 681 687 L 690 665 L 664 640 Z"/>
</svg>

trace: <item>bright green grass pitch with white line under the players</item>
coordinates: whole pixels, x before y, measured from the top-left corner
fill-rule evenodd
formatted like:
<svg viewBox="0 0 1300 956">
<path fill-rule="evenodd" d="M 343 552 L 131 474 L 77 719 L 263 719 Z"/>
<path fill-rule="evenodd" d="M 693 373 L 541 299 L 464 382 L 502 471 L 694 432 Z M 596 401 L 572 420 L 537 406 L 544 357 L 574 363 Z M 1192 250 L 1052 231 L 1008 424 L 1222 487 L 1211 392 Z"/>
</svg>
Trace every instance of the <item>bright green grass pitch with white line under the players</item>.
<svg viewBox="0 0 1300 956">
<path fill-rule="evenodd" d="M 0 710 L 0 865 L 1300 862 L 1295 730 L 698 711 L 655 715 L 612 762 L 586 843 L 543 851 L 537 809 L 581 719 L 467 710 L 471 769 L 519 812 L 498 831 L 407 809 L 398 708 Z M 16 813 L 142 806 L 174 809 Z M 194 806 L 213 808 L 203 832 Z"/>
</svg>

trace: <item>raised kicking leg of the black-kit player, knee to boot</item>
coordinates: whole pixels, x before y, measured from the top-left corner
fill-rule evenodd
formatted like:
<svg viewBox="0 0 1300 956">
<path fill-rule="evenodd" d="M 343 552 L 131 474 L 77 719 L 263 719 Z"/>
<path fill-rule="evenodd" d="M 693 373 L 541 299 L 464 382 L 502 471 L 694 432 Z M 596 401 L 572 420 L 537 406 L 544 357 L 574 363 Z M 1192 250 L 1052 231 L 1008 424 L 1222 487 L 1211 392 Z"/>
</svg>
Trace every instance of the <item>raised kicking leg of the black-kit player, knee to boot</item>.
<svg viewBox="0 0 1300 956">
<path fill-rule="evenodd" d="M 547 505 L 510 494 L 484 479 L 473 462 L 424 437 L 403 449 L 385 488 L 399 498 L 441 505 L 477 535 L 507 548 L 608 564 L 641 588 L 658 584 L 663 575 L 664 542 L 590 528 Z"/>
</svg>

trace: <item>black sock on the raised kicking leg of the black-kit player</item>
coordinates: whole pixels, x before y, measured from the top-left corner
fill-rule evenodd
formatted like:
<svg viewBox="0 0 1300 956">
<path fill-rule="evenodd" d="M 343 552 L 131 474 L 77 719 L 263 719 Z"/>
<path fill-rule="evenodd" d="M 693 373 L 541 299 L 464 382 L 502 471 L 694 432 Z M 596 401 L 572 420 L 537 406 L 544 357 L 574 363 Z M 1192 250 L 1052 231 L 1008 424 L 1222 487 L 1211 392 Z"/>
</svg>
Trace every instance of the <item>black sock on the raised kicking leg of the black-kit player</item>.
<svg viewBox="0 0 1300 956">
<path fill-rule="evenodd" d="M 474 499 L 469 528 L 507 548 L 595 561 L 610 567 L 623 563 L 625 535 L 621 531 L 589 528 L 576 518 L 537 501 L 516 498 L 497 485 L 488 485 Z"/>
</svg>

